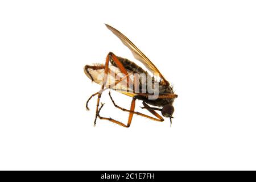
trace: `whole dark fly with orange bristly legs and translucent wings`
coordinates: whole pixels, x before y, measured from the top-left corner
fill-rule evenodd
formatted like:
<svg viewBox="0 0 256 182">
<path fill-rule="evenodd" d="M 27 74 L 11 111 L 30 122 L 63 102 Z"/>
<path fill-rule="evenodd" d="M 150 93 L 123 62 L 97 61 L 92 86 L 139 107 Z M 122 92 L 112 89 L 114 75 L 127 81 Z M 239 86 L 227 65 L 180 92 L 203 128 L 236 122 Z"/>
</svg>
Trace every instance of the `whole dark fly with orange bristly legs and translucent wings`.
<svg viewBox="0 0 256 182">
<path fill-rule="evenodd" d="M 144 71 L 143 68 L 139 67 L 133 61 L 116 56 L 113 52 L 108 53 L 105 64 L 85 65 L 85 75 L 88 76 L 90 80 L 101 85 L 100 91 L 92 94 L 86 102 L 86 109 L 89 110 L 89 100 L 94 96 L 98 97 L 94 126 L 96 125 L 97 118 L 100 118 L 117 123 L 123 127 L 130 127 L 134 114 L 159 122 L 164 121 L 163 117 L 167 117 L 170 118 L 170 122 L 172 124 L 172 114 L 174 113 L 174 106 L 172 106 L 172 104 L 177 95 L 174 93 L 170 83 L 163 77 L 158 68 L 156 68 L 155 65 L 129 39 L 127 39 L 125 35 L 112 26 L 109 26 L 108 24 L 105 25 L 121 40 L 123 44 L 125 44 L 126 47 L 130 49 L 135 59 L 140 61 L 154 76 L 151 76 L 150 73 Z M 144 79 L 138 75 L 144 75 Z M 159 77 L 160 80 L 156 80 L 155 76 Z M 151 88 L 148 85 L 151 85 Z M 113 105 L 118 109 L 129 113 L 127 124 L 119 122 L 113 118 L 102 117 L 100 115 L 100 111 L 104 106 L 104 104 L 101 104 L 100 106 L 100 99 L 102 92 L 106 89 L 115 90 L 132 98 L 130 109 L 124 109 L 115 104 L 115 101 L 109 92 Z M 156 91 L 158 93 L 157 97 L 152 98 L 155 94 L 152 91 Z M 134 111 L 136 100 L 141 100 L 143 104 L 142 109 L 148 110 L 155 117 Z M 161 111 L 163 117 L 156 113 L 156 111 Z"/>
</svg>

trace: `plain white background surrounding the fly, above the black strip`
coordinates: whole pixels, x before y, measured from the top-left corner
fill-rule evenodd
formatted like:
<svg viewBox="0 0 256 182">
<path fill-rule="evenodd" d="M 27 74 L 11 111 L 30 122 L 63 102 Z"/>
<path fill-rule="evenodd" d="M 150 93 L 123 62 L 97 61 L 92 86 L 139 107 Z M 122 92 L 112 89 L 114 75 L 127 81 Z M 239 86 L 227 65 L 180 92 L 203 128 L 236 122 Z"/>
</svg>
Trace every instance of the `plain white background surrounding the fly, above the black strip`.
<svg viewBox="0 0 256 182">
<path fill-rule="evenodd" d="M 0 169 L 256 169 L 255 1 L 1 1 Z M 84 75 L 125 34 L 174 84 L 173 125 L 98 120 Z M 138 61 L 136 62 L 138 63 Z M 102 115 L 127 121 L 108 92 Z M 113 93 L 118 105 L 131 98 Z M 140 101 L 137 109 L 141 111 Z M 142 112 L 145 112 L 144 110 Z"/>
</svg>

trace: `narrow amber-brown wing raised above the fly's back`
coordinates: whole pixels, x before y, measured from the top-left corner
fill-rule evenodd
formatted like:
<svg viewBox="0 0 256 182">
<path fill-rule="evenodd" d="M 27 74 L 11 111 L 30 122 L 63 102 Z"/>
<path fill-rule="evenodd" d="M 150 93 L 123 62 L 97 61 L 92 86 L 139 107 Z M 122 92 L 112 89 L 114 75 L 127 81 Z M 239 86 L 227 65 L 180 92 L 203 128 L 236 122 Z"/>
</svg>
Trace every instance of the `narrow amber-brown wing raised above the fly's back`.
<svg viewBox="0 0 256 182">
<path fill-rule="evenodd" d="M 116 35 L 125 46 L 127 46 L 131 53 L 133 53 L 133 56 L 135 59 L 141 61 L 141 63 L 153 74 L 159 75 L 160 78 L 162 78 L 163 84 L 169 84 L 168 81 L 163 77 L 162 73 L 159 72 L 158 68 L 155 67 L 155 65 L 145 56 L 141 50 L 139 50 L 128 38 L 126 38 L 125 35 L 123 35 L 121 32 L 113 28 L 112 26 L 109 26 L 108 24 L 105 24 L 106 27 L 109 28 L 113 32 L 114 35 Z"/>
</svg>

